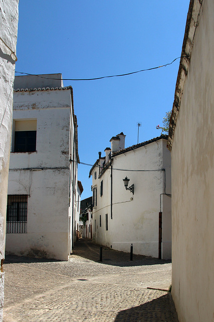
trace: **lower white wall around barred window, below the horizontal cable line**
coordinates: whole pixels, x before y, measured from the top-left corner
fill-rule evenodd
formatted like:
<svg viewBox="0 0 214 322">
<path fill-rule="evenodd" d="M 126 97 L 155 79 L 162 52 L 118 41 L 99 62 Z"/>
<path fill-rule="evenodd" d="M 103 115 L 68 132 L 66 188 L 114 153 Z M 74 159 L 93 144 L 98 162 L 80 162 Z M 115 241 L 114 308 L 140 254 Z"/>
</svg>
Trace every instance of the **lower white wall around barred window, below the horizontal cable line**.
<svg viewBox="0 0 214 322">
<path fill-rule="evenodd" d="M 28 194 L 28 233 L 7 233 L 6 252 L 68 260 L 66 170 L 10 171 L 8 193 Z"/>
</svg>

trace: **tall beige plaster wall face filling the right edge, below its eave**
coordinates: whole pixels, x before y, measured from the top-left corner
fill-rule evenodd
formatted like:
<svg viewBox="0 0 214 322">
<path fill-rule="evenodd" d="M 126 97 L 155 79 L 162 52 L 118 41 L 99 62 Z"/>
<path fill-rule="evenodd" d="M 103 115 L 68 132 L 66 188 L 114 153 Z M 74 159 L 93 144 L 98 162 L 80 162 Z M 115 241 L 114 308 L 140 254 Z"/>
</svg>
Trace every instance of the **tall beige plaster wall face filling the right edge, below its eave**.
<svg viewBox="0 0 214 322">
<path fill-rule="evenodd" d="M 172 142 L 172 297 L 180 322 L 214 320 L 214 3 L 202 3 Z"/>
</svg>

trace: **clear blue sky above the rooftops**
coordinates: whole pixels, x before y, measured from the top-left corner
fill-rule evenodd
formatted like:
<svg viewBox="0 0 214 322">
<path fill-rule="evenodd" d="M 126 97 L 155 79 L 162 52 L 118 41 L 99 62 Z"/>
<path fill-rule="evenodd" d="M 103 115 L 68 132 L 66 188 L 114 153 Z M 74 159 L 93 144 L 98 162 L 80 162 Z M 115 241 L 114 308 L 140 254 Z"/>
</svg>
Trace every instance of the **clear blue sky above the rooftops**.
<svg viewBox="0 0 214 322">
<path fill-rule="evenodd" d="M 20 0 L 16 71 L 93 78 L 170 63 L 181 54 L 187 0 Z M 123 132 L 125 147 L 160 135 L 172 108 L 179 59 L 123 77 L 64 81 L 74 91 L 79 156 L 98 151 Z M 19 73 L 16 73 L 19 75 Z M 92 195 L 90 167 L 79 165 L 82 199 Z"/>
</svg>

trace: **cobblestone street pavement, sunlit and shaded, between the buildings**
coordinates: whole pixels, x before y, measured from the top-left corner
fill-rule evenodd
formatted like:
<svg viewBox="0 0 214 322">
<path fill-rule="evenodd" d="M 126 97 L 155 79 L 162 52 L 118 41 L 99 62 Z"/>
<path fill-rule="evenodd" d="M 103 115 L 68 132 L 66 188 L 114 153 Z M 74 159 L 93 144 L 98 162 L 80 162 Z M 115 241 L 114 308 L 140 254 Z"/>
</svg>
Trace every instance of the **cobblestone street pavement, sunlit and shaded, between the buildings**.
<svg viewBox="0 0 214 322">
<path fill-rule="evenodd" d="M 4 270 L 4 322 L 178 322 L 169 261 L 103 248 L 99 262 L 80 239 L 68 262 L 8 256 Z"/>
</svg>

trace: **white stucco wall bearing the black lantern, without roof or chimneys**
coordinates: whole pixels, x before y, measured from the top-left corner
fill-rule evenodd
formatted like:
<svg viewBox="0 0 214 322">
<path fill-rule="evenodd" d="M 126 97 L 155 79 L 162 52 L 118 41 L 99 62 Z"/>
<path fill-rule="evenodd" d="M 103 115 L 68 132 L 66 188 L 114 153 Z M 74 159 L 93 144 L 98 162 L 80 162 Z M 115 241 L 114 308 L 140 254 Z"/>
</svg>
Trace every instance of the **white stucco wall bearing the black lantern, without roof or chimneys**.
<svg viewBox="0 0 214 322">
<path fill-rule="evenodd" d="M 95 185 L 98 187 L 97 207 L 93 208 L 93 235 L 96 243 L 124 252 L 129 252 L 130 246 L 133 244 L 134 254 L 158 257 L 160 194 L 164 193 L 164 172 L 161 171 L 163 160 L 167 171 L 170 171 L 170 152 L 166 148 L 166 140 L 152 142 L 145 147 L 139 147 L 134 151 L 128 151 L 113 158 L 113 169 L 160 171 L 128 172 L 113 170 L 112 219 L 110 167 L 100 179 L 94 180 L 92 173 L 93 187 Z M 94 171 L 97 171 L 96 168 Z M 134 184 L 134 195 L 125 190 L 123 179 L 126 176 L 130 179 L 129 186 Z M 101 180 L 103 180 L 102 197 L 100 197 Z M 166 193 L 171 193 L 168 174 Z M 164 218 L 162 234 L 163 258 L 171 257 L 170 201 L 169 197 L 161 198 L 161 210 Z M 108 230 L 106 230 L 105 224 L 106 214 L 108 214 Z"/>
</svg>

